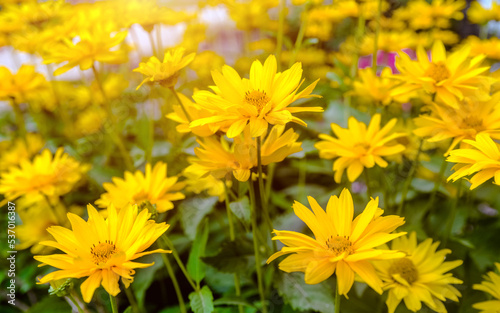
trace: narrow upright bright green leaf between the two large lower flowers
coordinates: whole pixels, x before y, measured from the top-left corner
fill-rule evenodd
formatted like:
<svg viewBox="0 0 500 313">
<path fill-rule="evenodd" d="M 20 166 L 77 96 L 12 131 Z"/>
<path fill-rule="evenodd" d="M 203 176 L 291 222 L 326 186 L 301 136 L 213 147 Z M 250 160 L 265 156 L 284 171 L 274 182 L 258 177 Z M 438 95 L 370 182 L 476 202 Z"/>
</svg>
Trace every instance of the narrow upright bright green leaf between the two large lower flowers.
<svg viewBox="0 0 500 313">
<path fill-rule="evenodd" d="M 208 219 L 206 219 L 203 225 L 200 225 L 200 227 L 198 228 L 196 237 L 193 241 L 193 246 L 191 247 L 191 252 L 189 253 L 187 271 L 197 284 L 199 284 L 200 281 L 205 278 L 206 265 L 201 261 L 201 258 L 205 256 L 205 247 L 208 240 L 208 230 Z"/>
</svg>

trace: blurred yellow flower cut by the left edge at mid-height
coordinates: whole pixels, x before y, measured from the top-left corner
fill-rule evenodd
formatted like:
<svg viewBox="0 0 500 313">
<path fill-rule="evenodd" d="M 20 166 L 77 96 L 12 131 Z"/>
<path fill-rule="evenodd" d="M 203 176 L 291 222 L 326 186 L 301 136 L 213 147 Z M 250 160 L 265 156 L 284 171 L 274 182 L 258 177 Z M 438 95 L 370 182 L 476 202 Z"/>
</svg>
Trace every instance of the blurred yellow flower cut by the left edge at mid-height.
<svg viewBox="0 0 500 313">
<path fill-rule="evenodd" d="M 63 148 L 57 149 L 54 157 L 46 149 L 33 162 L 22 160 L 19 167 L 13 166 L 4 172 L 0 178 L 0 193 L 9 200 L 23 195 L 64 195 L 73 189 L 89 168 L 64 153 Z"/>
</svg>

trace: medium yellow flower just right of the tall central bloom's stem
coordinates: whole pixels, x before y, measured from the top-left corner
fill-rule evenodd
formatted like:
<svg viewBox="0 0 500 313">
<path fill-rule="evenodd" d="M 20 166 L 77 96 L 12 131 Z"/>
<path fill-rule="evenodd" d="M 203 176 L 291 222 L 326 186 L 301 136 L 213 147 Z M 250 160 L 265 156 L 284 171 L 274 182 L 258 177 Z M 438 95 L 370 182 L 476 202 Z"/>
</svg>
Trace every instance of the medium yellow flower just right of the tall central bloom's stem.
<svg viewBox="0 0 500 313">
<path fill-rule="evenodd" d="M 333 163 L 337 183 L 342 180 L 342 174 L 346 168 L 347 178 L 353 182 L 361 175 L 365 167 L 372 168 L 375 164 L 387 167 L 388 163 L 382 157 L 400 153 L 405 149 L 400 144 L 387 145 L 390 141 L 405 136 L 403 133 L 389 135 L 396 121 L 394 118 L 380 129 L 380 114 L 375 114 L 367 128 L 366 124 L 350 117 L 347 129 L 332 123 L 332 130 L 338 138 L 320 134 L 319 138 L 324 141 L 314 146 L 319 150 L 320 158 L 338 158 Z"/>
</svg>

